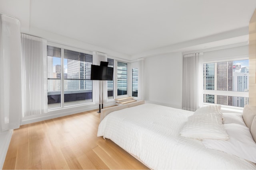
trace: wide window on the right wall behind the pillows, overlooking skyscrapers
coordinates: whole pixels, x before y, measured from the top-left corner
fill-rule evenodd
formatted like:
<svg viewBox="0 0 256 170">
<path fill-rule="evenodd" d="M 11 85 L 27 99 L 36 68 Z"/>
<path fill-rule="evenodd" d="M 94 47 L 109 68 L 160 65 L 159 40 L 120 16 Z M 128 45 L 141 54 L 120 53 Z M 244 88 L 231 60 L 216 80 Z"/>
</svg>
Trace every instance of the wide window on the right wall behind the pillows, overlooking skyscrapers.
<svg viewBox="0 0 256 170">
<path fill-rule="evenodd" d="M 249 60 L 204 64 L 204 102 L 244 107 L 248 104 Z"/>
</svg>

